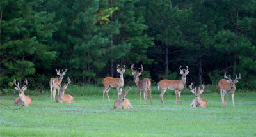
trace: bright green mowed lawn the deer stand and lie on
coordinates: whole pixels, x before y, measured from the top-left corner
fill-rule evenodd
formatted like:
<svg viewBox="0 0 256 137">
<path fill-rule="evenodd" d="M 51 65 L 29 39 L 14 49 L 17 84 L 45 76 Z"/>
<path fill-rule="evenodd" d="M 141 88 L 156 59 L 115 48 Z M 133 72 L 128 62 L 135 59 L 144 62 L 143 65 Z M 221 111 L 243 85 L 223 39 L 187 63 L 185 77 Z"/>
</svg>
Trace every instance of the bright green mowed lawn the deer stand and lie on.
<svg viewBox="0 0 256 137">
<path fill-rule="evenodd" d="M 114 92 L 113 90 L 111 92 Z M 173 92 L 173 91 L 168 91 Z M 1 96 L 0 136 L 256 136 L 256 93 L 236 92 L 236 108 L 229 95 L 226 108 L 218 93 L 202 94 L 208 108 L 190 108 L 195 98 L 182 94 L 182 105 L 175 96 L 158 94 L 153 105 L 148 96 L 139 105 L 138 94 L 128 94 L 133 109 L 116 110 L 102 96 L 74 96 L 76 103 L 51 102 L 51 95 L 31 96 L 33 106 L 13 106 L 17 96 Z M 13 110 L 14 109 L 14 110 Z"/>
</svg>

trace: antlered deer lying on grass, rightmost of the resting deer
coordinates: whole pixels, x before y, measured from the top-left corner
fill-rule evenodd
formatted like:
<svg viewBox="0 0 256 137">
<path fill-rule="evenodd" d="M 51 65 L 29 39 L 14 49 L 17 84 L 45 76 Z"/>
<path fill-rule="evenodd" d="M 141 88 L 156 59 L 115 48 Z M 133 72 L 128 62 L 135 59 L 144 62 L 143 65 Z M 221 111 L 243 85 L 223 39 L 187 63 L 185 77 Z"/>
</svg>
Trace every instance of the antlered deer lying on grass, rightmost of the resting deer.
<svg viewBox="0 0 256 137">
<path fill-rule="evenodd" d="M 189 89 L 191 90 L 191 92 L 193 94 L 195 94 L 195 99 L 192 101 L 190 107 L 204 107 L 207 108 L 207 101 L 204 98 L 200 97 L 200 94 L 204 93 L 204 88 L 205 86 L 202 85 L 203 89 L 200 89 L 200 86 L 198 87 L 198 90 L 192 88 L 193 83 L 191 83 L 191 85 L 189 85 Z"/>
</svg>

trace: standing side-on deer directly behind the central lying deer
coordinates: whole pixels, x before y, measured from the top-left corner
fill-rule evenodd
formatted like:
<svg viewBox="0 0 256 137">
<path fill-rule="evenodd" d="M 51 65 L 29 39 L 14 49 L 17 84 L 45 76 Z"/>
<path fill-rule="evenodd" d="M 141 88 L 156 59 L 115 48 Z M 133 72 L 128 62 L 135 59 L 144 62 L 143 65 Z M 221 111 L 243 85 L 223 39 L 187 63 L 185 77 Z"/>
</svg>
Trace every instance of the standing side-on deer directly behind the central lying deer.
<svg viewBox="0 0 256 137">
<path fill-rule="evenodd" d="M 117 89 L 117 98 L 119 99 L 119 91 L 122 92 L 122 88 L 124 87 L 124 76 L 123 74 L 125 73 L 125 65 L 124 65 L 124 69 L 119 68 L 119 64 L 117 66 L 117 72 L 120 74 L 120 78 L 113 78 L 113 77 L 106 77 L 103 78 L 102 82 L 104 84 L 104 89 L 103 89 L 103 100 L 105 100 L 105 92 L 107 92 L 107 96 L 108 96 L 108 92 L 111 89 L 111 87 L 116 87 Z M 108 100 L 109 96 L 108 96 Z"/>
</svg>

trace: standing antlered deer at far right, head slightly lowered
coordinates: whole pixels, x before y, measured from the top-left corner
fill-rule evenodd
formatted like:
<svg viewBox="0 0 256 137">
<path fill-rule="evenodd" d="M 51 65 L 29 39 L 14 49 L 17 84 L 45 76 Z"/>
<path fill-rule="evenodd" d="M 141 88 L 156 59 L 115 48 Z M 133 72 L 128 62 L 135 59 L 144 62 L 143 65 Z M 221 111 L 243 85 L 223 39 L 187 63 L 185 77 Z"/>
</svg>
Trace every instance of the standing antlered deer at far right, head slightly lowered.
<svg viewBox="0 0 256 137">
<path fill-rule="evenodd" d="M 236 78 L 234 80 L 231 80 L 231 76 L 230 75 L 229 75 L 229 77 L 227 77 L 226 73 L 224 75 L 224 78 L 225 79 L 221 79 L 218 82 L 218 87 L 220 89 L 220 94 L 221 94 L 222 107 L 226 107 L 227 101 L 228 101 L 228 93 L 230 93 L 231 97 L 232 97 L 232 101 L 233 101 L 233 107 L 235 108 L 234 93 L 236 91 L 236 83 L 238 82 L 238 80 L 241 79 L 241 73 L 239 73 L 239 77 L 238 78 L 237 78 L 237 75 L 236 75 Z M 225 94 L 226 94 L 226 103 L 224 101 Z"/>
</svg>

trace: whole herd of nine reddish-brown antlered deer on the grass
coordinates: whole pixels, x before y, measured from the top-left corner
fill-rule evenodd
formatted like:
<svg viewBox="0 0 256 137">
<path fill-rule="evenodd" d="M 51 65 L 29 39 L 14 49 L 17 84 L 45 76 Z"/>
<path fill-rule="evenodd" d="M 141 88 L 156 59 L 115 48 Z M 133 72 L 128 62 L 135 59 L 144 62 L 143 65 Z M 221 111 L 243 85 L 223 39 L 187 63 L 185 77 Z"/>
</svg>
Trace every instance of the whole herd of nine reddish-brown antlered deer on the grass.
<svg viewBox="0 0 256 137">
<path fill-rule="evenodd" d="M 120 78 L 113 78 L 113 77 L 106 77 L 102 80 L 103 84 L 104 84 L 104 89 L 103 89 L 103 99 L 105 99 L 105 92 L 107 93 L 108 96 L 108 92 L 111 89 L 111 87 L 115 87 L 117 89 L 117 98 L 114 102 L 114 108 L 133 108 L 130 101 L 128 99 L 126 99 L 126 95 L 128 94 L 128 92 L 131 90 L 131 87 L 129 87 L 129 90 L 127 90 L 125 93 L 122 93 L 122 88 L 124 87 L 124 73 L 125 73 L 125 66 L 124 68 L 121 70 L 121 68 L 119 68 L 120 65 L 117 66 L 117 72 L 120 74 Z M 146 101 L 147 101 L 147 90 L 149 92 L 150 95 L 150 103 L 152 105 L 152 96 L 151 96 L 151 82 L 148 78 L 143 78 L 143 80 L 140 80 L 139 76 L 141 75 L 141 73 L 143 72 L 143 66 L 141 65 L 141 68 L 139 68 L 141 71 L 139 70 L 135 70 L 133 68 L 134 64 L 132 64 L 131 66 L 131 70 L 132 70 L 132 75 L 134 75 L 134 81 L 136 83 L 136 86 L 138 88 L 139 94 L 140 94 L 140 104 L 141 104 L 141 90 L 143 90 L 143 97 L 144 97 L 144 105 L 146 105 Z M 181 68 L 181 66 L 179 67 L 179 69 Z M 160 94 L 160 98 L 162 103 L 164 104 L 164 100 L 163 100 L 163 95 L 166 92 L 167 89 L 170 90 L 175 90 L 175 94 L 176 94 L 176 105 L 177 105 L 177 97 L 179 95 L 179 103 L 181 104 L 181 99 L 180 99 L 180 93 L 181 90 L 184 89 L 184 85 L 186 85 L 186 75 L 188 75 L 189 71 L 188 71 L 188 66 L 186 66 L 186 70 L 184 69 L 180 69 L 180 74 L 182 75 L 182 79 L 181 80 L 161 80 L 160 82 L 157 83 L 157 87 L 158 89 L 161 89 L 161 94 Z M 62 70 L 62 73 L 60 73 L 60 70 L 57 71 L 57 69 L 55 69 L 57 72 L 57 75 L 59 76 L 58 78 L 51 78 L 50 80 L 50 88 L 51 88 L 51 101 L 53 98 L 53 101 L 55 101 L 55 95 L 56 95 L 56 89 L 58 89 L 58 97 L 57 97 L 57 102 L 59 103 L 72 103 L 75 102 L 74 98 L 69 95 L 69 94 L 64 94 L 65 93 L 65 89 L 67 89 L 68 84 L 71 83 L 70 78 L 67 78 L 68 83 L 64 83 L 64 86 L 61 86 L 61 82 L 63 80 L 63 76 L 66 74 L 67 69 L 65 71 Z M 218 87 L 220 89 L 220 94 L 221 94 L 221 103 L 222 103 L 222 107 L 226 107 L 227 105 L 227 99 L 228 99 L 228 93 L 231 94 L 232 97 L 232 101 L 233 101 L 233 107 L 235 108 L 235 104 L 234 104 L 234 92 L 236 91 L 236 83 L 238 82 L 239 79 L 241 79 L 241 74 L 239 73 L 239 77 L 236 78 L 235 80 L 231 80 L 231 77 L 229 75 L 229 77 L 226 76 L 226 73 L 224 75 L 225 79 L 221 79 L 218 82 Z M 26 79 L 24 81 L 25 84 L 23 84 L 23 87 L 20 88 L 19 87 L 19 82 L 16 83 L 16 80 L 13 80 L 14 84 L 15 84 L 15 89 L 19 91 L 19 97 L 17 97 L 14 101 L 14 105 L 16 106 L 31 106 L 32 105 L 32 101 L 31 98 L 29 96 L 26 96 L 24 94 L 24 91 L 27 89 L 27 85 L 28 85 L 28 80 Z M 20 84 L 21 85 L 21 84 Z M 189 89 L 191 90 L 191 92 L 193 94 L 195 94 L 195 99 L 193 99 L 192 103 L 191 103 L 191 107 L 207 107 L 207 101 L 204 98 L 200 97 L 200 94 L 204 93 L 204 88 L 205 86 L 202 85 L 202 89 L 200 89 L 200 86 L 198 87 L 198 90 L 193 89 L 193 83 L 191 83 L 191 85 L 189 85 Z M 224 96 L 226 94 L 226 101 L 224 99 Z M 119 96 L 122 96 L 119 99 Z M 109 96 L 108 96 L 108 100 Z"/>
</svg>

